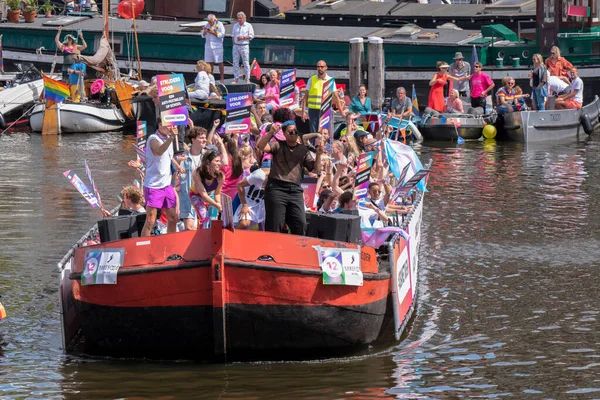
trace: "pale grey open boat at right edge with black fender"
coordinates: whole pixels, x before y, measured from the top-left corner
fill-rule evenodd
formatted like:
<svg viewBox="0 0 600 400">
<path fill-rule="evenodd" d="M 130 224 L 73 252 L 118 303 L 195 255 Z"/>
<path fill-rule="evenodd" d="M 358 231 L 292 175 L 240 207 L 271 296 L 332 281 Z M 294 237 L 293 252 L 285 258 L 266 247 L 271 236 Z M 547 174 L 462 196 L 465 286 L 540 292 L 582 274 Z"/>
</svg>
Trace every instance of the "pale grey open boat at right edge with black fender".
<svg viewBox="0 0 600 400">
<path fill-rule="evenodd" d="M 581 109 L 517 111 L 502 114 L 496 124 L 500 136 L 534 143 L 577 138 L 591 135 L 600 125 L 600 99 L 594 98 Z"/>
</svg>

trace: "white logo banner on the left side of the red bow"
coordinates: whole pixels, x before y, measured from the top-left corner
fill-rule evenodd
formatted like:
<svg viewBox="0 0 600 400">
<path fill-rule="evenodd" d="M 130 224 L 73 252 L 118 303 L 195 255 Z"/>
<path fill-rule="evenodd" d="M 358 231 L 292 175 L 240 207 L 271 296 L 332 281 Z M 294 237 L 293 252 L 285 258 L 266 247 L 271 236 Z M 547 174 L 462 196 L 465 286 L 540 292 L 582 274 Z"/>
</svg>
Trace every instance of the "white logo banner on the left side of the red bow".
<svg viewBox="0 0 600 400">
<path fill-rule="evenodd" d="M 89 249 L 85 252 L 82 285 L 116 285 L 125 249 Z"/>
</svg>

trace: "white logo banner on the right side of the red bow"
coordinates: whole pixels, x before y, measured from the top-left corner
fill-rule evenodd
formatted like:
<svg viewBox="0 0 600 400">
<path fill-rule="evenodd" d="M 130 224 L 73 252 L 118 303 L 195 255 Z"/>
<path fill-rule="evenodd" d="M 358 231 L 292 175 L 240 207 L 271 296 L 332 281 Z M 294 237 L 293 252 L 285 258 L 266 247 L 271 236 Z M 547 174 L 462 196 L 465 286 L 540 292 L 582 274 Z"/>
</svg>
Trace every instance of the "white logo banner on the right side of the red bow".
<svg viewBox="0 0 600 400">
<path fill-rule="evenodd" d="M 323 270 L 324 285 L 362 286 L 363 274 L 360 269 L 360 247 L 339 249 L 314 246 L 319 253 L 319 265 Z"/>
</svg>

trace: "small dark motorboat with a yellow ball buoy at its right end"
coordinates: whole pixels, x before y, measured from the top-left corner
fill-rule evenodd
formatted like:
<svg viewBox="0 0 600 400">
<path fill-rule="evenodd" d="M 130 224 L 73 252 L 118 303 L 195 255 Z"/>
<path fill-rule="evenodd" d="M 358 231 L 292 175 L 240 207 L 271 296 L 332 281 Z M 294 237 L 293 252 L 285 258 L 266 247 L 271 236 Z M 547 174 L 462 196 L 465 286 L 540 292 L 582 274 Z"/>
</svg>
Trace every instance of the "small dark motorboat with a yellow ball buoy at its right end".
<svg viewBox="0 0 600 400">
<path fill-rule="evenodd" d="M 443 113 L 421 117 L 419 130 L 425 140 L 477 140 L 487 124 L 496 122 L 496 112 L 486 115 Z"/>
</svg>

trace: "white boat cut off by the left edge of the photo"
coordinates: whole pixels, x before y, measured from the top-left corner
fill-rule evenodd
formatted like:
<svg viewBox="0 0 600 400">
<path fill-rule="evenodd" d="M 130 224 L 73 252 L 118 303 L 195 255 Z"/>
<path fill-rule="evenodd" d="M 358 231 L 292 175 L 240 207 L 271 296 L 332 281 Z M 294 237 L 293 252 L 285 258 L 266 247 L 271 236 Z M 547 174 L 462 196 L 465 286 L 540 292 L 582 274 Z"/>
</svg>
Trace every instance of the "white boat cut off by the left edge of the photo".
<svg viewBox="0 0 600 400">
<path fill-rule="evenodd" d="M 11 81 L 11 87 L 0 91 L 0 128 L 22 116 L 39 98 L 44 90 L 44 80 L 32 64 L 16 64 L 15 75 L 0 76 L 2 81 Z"/>
</svg>

